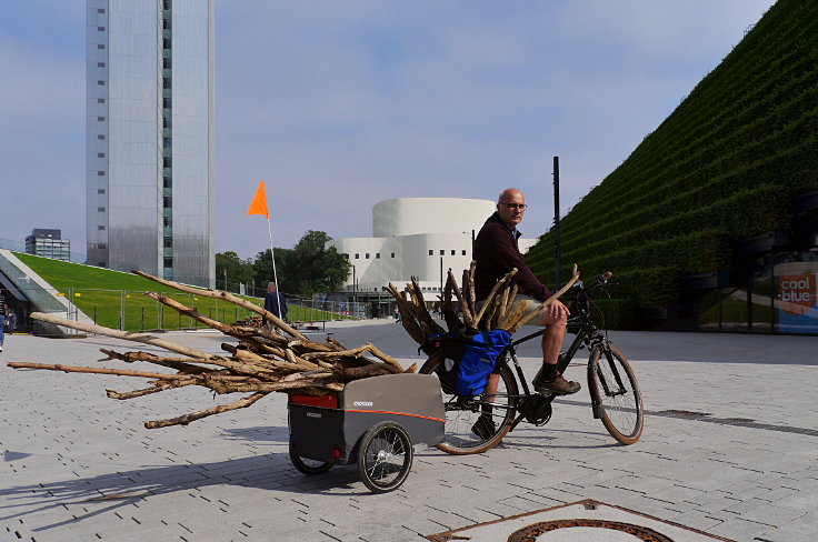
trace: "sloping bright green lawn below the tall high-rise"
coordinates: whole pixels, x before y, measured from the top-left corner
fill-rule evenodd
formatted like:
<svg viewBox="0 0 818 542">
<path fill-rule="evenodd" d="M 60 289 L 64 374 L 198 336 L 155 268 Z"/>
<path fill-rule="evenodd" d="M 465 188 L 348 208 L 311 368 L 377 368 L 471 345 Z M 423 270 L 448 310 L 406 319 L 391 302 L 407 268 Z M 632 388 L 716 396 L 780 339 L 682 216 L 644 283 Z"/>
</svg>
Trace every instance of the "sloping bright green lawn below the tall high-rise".
<svg viewBox="0 0 818 542">
<path fill-rule="evenodd" d="M 255 313 L 212 298 L 170 290 L 167 287 L 136 274 L 111 271 L 91 265 L 51 260 L 16 252 L 20 260 L 49 282 L 58 295 L 69 298 L 77 307 L 106 328 L 141 331 L 153 329 L 190 329 L 202 328 L 202 324 L 182 317 L 158 301 L 147 298 L 146 291 L 158 292 L 173 300 L 196 308 L 200 313 L 232 323 Z M 250 302 L 263 307 L 260 298 L 243 297 Z M 288 305 L 288 318 L 291 321 L 321 320 L 321 311 Z M 327 314 L 336 320 L 339 314 Z"/>
</svg>

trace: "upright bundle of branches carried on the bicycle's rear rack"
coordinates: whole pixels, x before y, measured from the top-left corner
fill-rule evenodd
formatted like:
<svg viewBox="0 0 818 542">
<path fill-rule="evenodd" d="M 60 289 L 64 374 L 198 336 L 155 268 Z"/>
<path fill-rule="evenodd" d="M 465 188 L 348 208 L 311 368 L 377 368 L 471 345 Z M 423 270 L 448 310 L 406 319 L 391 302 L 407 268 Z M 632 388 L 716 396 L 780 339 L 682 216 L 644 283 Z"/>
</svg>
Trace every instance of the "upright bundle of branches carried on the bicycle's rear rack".
<svg viewBox="0 0 818 542">
<path fill-rule="evenodd" d="M 517 299 L 518 287 L 511 281 L 511 278 L 517 274 L 517 269 L 509 271 L 506 277 L 495 284 L 485 302 L 478 303 L 475 299 L 475 263 L 472 261 L 471 267 L 463 271 L 462 287 L 458 285 L 451 269 L 449 269 L 446 287 L 440 298 L 440 308 L 443 321 L 449 328 L 448 331 L 502 329 L 513 334 L 537 314 L 526 310 L 528 303 L 525 300 Z M 579 279 L 579 273 L 575 264 L 571 280 L 543 301 L 539 307 L 539 311 L 543 311 L 555 300 L 559 299 L 577 282 L 577 279 Z M 429 335 L 447 332 L 429 313 L 423 292 L 418 285 L 416 277 L 412 277 L 411 282 L 407 283 L 405 292 L 399 291 L 391 283 L 383 289 L 398 301 L 403 329 L 418 344 L 426 345 Z"/>
</svg>

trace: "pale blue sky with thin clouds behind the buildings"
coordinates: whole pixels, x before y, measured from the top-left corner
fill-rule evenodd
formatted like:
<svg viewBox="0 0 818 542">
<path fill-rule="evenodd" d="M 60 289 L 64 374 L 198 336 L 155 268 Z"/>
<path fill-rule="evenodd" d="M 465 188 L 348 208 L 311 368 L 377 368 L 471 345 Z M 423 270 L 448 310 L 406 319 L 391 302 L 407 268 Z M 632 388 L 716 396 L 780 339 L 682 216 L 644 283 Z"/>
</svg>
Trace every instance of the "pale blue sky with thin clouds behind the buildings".
<svg viewBox="0 0 818 542">
<path fill-rule="evenodd" d="M 772 0 L 216 0 L 217 251 L 371 235 L 400 197 L 521 189 L 527 237 L 619 165 Z M 3 2 L 0 238 L 84 252 L 82 0 Z"/>
</svg>

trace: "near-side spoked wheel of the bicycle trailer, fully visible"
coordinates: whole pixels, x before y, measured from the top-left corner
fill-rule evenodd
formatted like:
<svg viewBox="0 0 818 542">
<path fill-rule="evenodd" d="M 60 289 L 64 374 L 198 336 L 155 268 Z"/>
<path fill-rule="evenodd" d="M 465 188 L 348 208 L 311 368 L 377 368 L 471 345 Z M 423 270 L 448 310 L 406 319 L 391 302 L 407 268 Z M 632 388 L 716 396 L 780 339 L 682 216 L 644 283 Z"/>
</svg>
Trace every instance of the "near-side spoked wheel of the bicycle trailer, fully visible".
<svg viewBox="0 0 818 542">
<path fill-rule="evenodd" d="M 398 423 L 378 423 L 361 438 L 358 473 L 372 492 L 386 493 L 400 488 L 411 466 L 412 442 Z"/>
</svg>

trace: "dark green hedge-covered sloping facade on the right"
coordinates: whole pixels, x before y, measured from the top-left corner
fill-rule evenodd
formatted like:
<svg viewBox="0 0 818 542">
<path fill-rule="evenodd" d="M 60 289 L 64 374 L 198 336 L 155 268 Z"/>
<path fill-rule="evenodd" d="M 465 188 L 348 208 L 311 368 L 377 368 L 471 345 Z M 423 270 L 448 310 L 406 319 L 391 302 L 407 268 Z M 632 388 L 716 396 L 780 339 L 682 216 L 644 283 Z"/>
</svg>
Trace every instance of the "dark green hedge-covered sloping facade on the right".
<svg viewBox="0 0 818 542">
<path fill-rule="evenodd" d="M 679 277 L 732 271 L 732 243 L 791 229 L 818 189 L 818 2 L 779 0 L 561 222 L 562 275 L 611 270 L 619 327 L 679 301 Z M 553 279 L 553 232 L 528 263 Z"/>
</svg>

